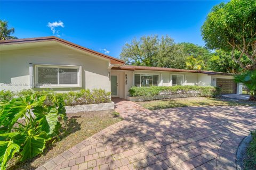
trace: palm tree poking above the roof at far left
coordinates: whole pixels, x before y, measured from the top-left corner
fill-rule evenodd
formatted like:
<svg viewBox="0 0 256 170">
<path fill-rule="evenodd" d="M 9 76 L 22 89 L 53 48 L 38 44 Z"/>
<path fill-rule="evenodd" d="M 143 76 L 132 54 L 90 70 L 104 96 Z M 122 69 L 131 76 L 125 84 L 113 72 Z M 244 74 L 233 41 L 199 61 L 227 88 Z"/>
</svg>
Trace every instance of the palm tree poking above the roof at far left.
<svg viewBox="0 0 256 170">
<path fill-rule="evenodd" d="M 17 37 L 11 36 L 14 33 L 14 28 L 8 27 L 8 21 L 0 20 L 0 39 L 17 39 Z"/>
</svg>

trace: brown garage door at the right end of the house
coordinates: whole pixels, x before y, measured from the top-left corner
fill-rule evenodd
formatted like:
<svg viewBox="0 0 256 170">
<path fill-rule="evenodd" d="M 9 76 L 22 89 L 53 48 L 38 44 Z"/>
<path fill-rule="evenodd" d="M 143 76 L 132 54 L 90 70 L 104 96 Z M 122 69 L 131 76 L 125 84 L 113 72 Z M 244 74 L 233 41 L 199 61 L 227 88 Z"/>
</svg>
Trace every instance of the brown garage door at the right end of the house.
<svg viewBox="0 0 256 170">
<path fill-rule="evenodd" d="M 233 79 L 217 79 L 217 87 L 221 87 L 221 94 L 236 94 L 236 83 Z"/>
</svg>

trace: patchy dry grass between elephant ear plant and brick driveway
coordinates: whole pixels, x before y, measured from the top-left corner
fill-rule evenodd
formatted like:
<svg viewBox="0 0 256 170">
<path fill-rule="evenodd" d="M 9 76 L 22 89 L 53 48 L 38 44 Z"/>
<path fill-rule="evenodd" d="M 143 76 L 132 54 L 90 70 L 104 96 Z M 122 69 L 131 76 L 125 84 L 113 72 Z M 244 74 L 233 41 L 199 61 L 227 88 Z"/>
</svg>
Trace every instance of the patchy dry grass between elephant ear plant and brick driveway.
<svg viewBox="0 0 256 170">
<path fill-rule="evenodd" d="M 67 116 L 67 131 L 61 133 L 60 141 L 47 146 L 43 155 L 24 163 L 19 163 L 19 157 L 16 157 L 9 162 L 9 168 L 7 169 L 35 169 L 91 135 L 122 120 L 114 110 L 67 114 Z"/>
</svg>

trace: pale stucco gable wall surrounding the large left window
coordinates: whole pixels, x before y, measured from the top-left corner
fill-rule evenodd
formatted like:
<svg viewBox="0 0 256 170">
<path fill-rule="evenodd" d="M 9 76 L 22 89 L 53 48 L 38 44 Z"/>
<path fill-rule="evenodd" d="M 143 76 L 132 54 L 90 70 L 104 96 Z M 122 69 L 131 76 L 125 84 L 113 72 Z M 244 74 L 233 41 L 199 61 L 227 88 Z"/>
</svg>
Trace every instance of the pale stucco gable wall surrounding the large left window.
<svg viewBox="0 0 256 170">
<path fill-rule="evenodd" d="M 82 88 L 110 91 L 109 60 L 64 45 L 3 50 L 0 53 L 0 90 L 28 89 L 29 63 L 82 66 Z M 17 84 L 16 84 L 17 83 Z M 12 85 L 12 86 L 8 86 Z M 49 86 L 49 88 L 51 88 Z M 42 88 L 34 88 L 41 90 Z M 53 88 L 55 91 L 81 88 Z"/>
</svg>

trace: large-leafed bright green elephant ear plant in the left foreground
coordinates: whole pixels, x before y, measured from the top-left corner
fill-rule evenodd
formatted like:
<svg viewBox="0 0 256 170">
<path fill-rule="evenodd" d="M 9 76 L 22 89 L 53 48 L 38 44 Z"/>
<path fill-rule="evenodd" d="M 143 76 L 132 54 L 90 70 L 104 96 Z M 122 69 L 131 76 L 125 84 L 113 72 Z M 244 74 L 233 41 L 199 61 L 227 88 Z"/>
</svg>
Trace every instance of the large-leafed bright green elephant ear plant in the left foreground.
<svg viewBox="0 0 256 170">
<path fill-rule="evenodd" d="M 60 120 L 67 122 L 63 99 L 53 97 L 52 106 L 45 106 L 45 99 L 28 95 L 0 102 L 0 169 L 6 169 L 14 154 L 24 161 L 41 154 L 47 142 L 59 139 Z"/>
</svg>

